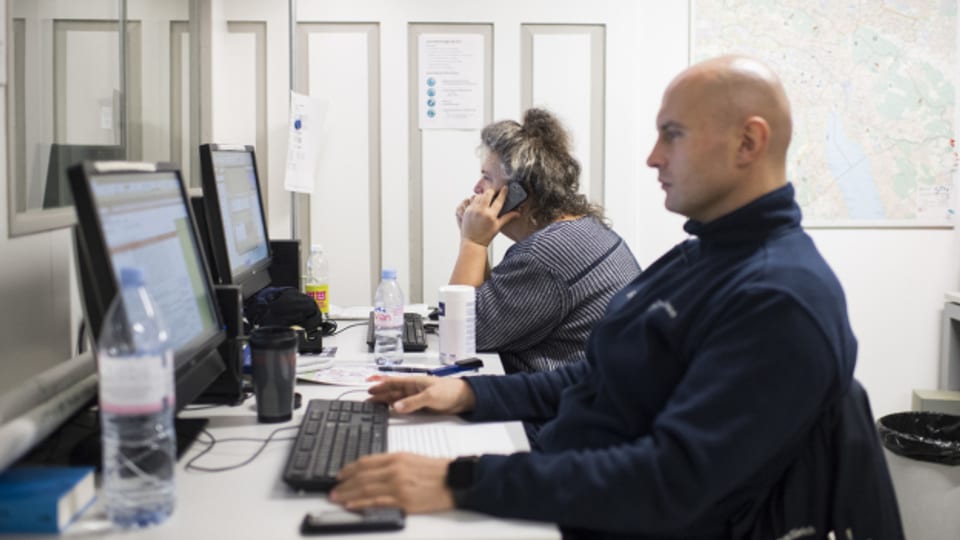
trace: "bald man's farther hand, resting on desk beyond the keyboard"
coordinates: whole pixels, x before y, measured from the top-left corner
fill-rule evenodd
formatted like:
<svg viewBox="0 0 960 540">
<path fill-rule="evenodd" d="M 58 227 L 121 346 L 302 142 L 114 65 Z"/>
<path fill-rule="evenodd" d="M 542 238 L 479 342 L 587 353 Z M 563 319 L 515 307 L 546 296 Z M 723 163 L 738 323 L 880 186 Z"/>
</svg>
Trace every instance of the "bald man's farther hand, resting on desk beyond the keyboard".
<svg viewBox="0 0 960 540">
<path fill-rule="evenodd" d="M 369 392 L 373 401 L 392 405 L 401 413 L 427 410 L 460 414 L 476 406 L 473 389 L 459 378 L 384 377 L 383 382 L 371 386 Z"/>
</svg>

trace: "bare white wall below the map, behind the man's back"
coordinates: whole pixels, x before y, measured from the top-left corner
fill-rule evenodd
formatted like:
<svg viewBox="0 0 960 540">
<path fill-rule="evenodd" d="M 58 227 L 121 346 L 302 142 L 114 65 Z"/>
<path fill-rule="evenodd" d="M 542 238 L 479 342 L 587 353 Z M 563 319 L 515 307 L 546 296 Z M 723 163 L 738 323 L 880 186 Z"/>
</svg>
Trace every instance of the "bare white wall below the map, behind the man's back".
<svg viewBox="0 0 960 540">
<path fill-rule="evenodd" d="M 810 231 L 847 294 L 859 341 L 856 376 L 874 415 L 909 410 L 914 388 L 938 387 L 943 293 L 957 290 L 949 229 Z"/>
</svg>

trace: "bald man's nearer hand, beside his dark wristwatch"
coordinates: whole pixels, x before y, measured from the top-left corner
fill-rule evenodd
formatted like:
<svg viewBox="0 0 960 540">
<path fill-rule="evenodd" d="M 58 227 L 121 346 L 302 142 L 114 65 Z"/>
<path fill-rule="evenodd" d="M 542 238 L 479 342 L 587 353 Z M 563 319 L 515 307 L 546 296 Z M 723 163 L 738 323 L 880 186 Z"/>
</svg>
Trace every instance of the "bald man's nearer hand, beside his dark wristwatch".
<svg viewBox="0 0 960 540">
<path fill-rule="evenodd" d="M 372 454 L 343 467 L 330 500 L 350 510 L 399 506 L 408 514 L 453 509 L 446 486 L 447 458 L 408 453 Z"/>
</svg>

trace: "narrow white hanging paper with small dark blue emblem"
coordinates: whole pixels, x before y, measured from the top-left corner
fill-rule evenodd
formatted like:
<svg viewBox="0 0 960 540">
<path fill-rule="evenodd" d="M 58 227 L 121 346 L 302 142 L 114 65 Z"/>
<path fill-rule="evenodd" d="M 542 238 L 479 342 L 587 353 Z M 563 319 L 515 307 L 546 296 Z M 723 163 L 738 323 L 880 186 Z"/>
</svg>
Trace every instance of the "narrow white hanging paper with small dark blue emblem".
<svg viewBox="0 0 960 540">
<path fill-rule="evenodd" d="M 321 133 L 327 119 L 327 100 L 290 92 L 290 137 L 287 141 L 287 174 L 283 187 L 313 193 Z"/>
</svg>

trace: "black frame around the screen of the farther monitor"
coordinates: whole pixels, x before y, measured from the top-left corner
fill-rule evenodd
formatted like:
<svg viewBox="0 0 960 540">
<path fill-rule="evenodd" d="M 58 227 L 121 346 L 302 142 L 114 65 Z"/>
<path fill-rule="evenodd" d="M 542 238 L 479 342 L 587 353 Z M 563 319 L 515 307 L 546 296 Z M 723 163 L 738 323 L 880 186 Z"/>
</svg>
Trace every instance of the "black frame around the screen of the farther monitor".
<svg viewBox="0 0 960 540">
<path fill-rule="evenodd" d="M 227 250 L 227 237 L 223 213 L 217 189 L 217 178 L 213 164 L 214 152 L 235 152 L 250 155 L 253 174 L 256 178 L 257 203 L 260 205 L 260 220 L 263 226 L 267 256 L 241 272 L 234 274 Z M 209 240 L 214 279 L 221 285 L 237 285 L 243 298 L 248 299 L 270 285 L 270 265 L 273 263 L 273 247 L 270 244 L 270 230 L 267 228 L 267 212 L 263 206 L 263 193 L 260 185 L 260 173 L 257 170 L 257 155 L 253 146 L 238 144 L 204 143 L 200 145 L 200 185 L 203 189 L 203 207 L 206 214 L 206 233 Z"/>
</svg>

